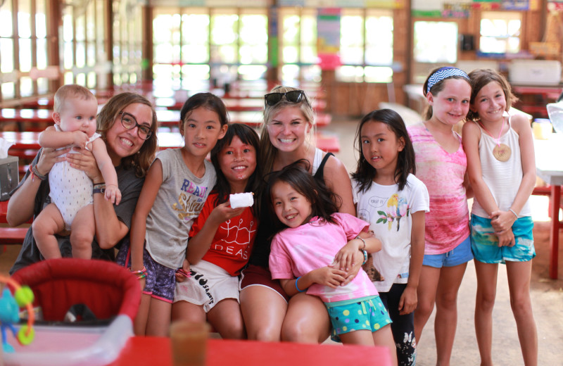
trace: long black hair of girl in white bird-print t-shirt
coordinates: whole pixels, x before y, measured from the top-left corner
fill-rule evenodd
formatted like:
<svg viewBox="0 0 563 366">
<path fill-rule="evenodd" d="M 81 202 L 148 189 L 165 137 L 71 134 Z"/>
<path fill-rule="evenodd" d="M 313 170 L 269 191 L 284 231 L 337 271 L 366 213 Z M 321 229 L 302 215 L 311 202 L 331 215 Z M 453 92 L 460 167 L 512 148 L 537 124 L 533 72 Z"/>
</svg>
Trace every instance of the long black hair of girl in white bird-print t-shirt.
<svg viewBox="0 0 563 366">
<path fill-rule="evenodd" d="M 387 125 L 387 128 L 395 134 L 397 139 L 402 138 L 405 142 L 403 151 L 399 151 L 395 170 L 395 182 L 398 184 L 399 190 L 402 191 L 407 184 L 409 174 L 415 174 L 417 170 L 415 164 L 415 148 L 412 147 L 412 141 L 410 140 L 403 118 L 401 118 L 396 111 L 391 109 L 377 109 L 371 111 L 360 121 L 358 130 L 356 130 L 355 141 L 356 151 L 358 151 L 360 157 L 358 158 L 356 171 L 352 173 L 352 178 L 360 184 L 360 191 L 367 191 L 369 187 L 372 187 L 372 182 L 377 176 L 377 170 L 369 164 L 362 153 L 362 127 L 364 127 L 367 122 L 384 123 Z"/>
</svg>

